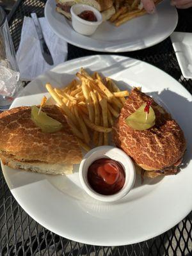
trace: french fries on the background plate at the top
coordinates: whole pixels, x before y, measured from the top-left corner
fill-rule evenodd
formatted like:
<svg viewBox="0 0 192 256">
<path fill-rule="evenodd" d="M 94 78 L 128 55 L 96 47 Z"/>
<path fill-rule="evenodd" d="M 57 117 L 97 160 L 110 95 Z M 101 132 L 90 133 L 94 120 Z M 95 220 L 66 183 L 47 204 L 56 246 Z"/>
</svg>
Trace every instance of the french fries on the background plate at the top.
<svg viewBox="0 0 192 256">
<path fill-rule="evenodd" d="M 158 4 L 161 0 L 154 0 L 155 4 Z M 109 19 L 115 24 L 115 26 L 120 26 L 127 22 L 128 20 L 140 17 L 147 12 L 143 9 L 140 4 L 140 0 L 114 0 L 115 14 Z"/>
</svg>

